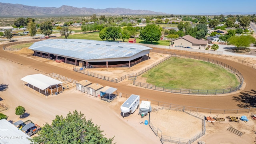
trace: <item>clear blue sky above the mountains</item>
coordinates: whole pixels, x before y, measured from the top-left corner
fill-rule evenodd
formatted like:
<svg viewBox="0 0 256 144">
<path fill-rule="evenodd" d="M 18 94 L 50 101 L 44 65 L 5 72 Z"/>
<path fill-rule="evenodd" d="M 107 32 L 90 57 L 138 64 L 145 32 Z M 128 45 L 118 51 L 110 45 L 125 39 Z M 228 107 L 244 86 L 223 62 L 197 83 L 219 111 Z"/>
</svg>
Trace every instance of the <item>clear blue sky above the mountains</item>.
<svg viewBox="0 0 256 144">
<path fill-rule="evenodd" d="M 40 7 L 130 8 L 167 14 L 256 12 L 256 0 L 0 0 L 4 3 Z"/>
</svg>

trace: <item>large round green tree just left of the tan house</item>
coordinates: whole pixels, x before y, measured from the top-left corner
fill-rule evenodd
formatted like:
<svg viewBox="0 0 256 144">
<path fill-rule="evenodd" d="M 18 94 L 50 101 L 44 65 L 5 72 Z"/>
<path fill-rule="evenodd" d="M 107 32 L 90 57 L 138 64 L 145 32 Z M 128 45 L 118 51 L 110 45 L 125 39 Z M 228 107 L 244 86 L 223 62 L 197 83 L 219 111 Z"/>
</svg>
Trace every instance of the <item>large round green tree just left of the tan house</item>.
<svg viewBox="0 0 256 144">
<path fill-rule="evenodd" d="M 140 39 L 145 40 L 146 42 L 152 42 L 160 40 L 161 30 L 156 24 L 148 24 L 142 30 L 140 30 Z"/>
</svg>

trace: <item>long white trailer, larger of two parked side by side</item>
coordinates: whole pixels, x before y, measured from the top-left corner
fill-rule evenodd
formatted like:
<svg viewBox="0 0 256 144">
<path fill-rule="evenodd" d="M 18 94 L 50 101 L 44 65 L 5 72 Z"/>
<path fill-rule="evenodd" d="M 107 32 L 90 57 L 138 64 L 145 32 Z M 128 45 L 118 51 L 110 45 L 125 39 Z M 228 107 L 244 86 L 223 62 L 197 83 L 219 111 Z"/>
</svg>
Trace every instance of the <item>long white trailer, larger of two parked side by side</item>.
<svg viewBox="0 0 256 144">
<path fill-rule="evenodd" d="M 140 96 L 132 94 L 120 107 L 121 112 L 123 113 L 128 113 L 132 114 L 134 111 L 139 107 L 140 104 Z"/>
</svg>

